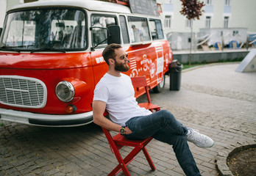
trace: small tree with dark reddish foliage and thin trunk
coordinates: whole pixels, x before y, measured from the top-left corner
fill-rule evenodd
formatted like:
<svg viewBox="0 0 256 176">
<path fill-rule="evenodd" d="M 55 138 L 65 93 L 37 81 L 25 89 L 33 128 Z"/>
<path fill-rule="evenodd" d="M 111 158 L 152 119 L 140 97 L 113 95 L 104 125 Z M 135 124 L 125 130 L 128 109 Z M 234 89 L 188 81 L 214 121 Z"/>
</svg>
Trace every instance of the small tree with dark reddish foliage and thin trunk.
<svg viewBox="0 0 256 176">
<path fill-rule="evenodd" d="M 191 48 L 192 48 L 192 31 L 193 31 L 193 23 L 192 21 L 196 19 L 199 20 L 199 16 L 202 15 L 202 7 L 205 6 L 204 2 L 200 2 L 198 0 L 180 0 L 182 1 L 182 10 L 179 12 L 182 15 L 185 15 L 189 21 L 191 21 Z M 189 54 L 188 64 L 191 65 L 191 49 Z"/>
</svg>

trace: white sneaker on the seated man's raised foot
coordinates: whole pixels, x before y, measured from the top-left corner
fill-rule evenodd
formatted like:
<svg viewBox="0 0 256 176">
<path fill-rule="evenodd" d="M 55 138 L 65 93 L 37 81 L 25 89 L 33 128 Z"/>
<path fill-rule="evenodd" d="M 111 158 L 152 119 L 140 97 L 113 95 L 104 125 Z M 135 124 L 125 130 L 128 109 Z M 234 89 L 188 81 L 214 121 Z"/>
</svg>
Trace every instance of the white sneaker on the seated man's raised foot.
<svg viewBox="0 0 256 176">
<path fill-rule="evenodd" d="M 190 134 L 187 136 L 188 142 L 192 142 L 195 144 L 197 147 L 202 147 L 202 148 L 210 148 L 213 147 L 213 139 L 210 139 L 210 137 L 205 136 L 202 133 L 199 133 L 199 131 L 194 130 L 192 128 L 188 128 L 189 131 L 191 131 Z"/>
</svg>

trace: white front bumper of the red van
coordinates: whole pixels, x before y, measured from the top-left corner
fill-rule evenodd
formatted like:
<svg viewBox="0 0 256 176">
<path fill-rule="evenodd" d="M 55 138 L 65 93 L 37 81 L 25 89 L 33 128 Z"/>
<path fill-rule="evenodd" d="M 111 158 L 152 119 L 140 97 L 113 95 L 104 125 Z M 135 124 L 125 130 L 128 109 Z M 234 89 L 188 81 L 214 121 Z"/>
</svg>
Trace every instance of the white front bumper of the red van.
<svg viewBox="0 0 256 176">
<path fill-rule="evenodd" d="M 93 122 L 93 111 L 81 114 L 54 115 L 36 114 L 27 111 L 15 111 L 0 108 L 0 120 L 48 127 L 72 127 Z"/>
</svg>

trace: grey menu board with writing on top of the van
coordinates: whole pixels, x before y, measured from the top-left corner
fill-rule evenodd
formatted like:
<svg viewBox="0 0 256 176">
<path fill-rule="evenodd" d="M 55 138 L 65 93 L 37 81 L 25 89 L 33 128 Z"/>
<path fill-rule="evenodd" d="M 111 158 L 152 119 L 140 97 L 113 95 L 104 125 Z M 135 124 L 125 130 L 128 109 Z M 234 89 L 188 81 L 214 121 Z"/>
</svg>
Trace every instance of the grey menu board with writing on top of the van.
<svg viewBox="0 0 256 176">
<path fill-rule="evenodd" d="M 129 6 L 133 13 L 158 16 L 156 0 L 129 0 Z"/>
</svg>

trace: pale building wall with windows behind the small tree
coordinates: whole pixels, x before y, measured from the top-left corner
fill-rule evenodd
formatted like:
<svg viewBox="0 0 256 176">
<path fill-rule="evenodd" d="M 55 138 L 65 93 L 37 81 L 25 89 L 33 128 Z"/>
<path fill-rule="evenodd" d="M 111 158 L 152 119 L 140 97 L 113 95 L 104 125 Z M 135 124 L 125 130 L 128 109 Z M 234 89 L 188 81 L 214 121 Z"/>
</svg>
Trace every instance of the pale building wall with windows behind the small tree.
<svg viewBox="0 0 256 176">
<path fill-rule="evenodd" d="M 201 0 L 202 1 L 202 0 Z M 202 16 L 193 21 L 193 32 L 202 28 L 246 28 L 256 32 L 255 0 L 203 0 Z M 182 2 L 164 0 L 161 16 L 164 19 L 166 32 L 190 32 L 191 23 L 180 14 Z"/>
</svg>

